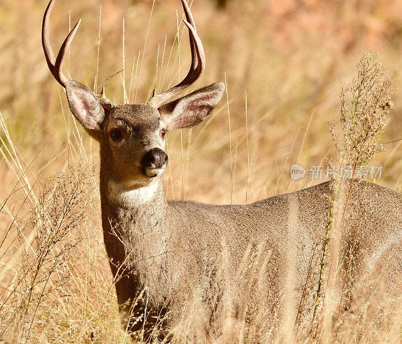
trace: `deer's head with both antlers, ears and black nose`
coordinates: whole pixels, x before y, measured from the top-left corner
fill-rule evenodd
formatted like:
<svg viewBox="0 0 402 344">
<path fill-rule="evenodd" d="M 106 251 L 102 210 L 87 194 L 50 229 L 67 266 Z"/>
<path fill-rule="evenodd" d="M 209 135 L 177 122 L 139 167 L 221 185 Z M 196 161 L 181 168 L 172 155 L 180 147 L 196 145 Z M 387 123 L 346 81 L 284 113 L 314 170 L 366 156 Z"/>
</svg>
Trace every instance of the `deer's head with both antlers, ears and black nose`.
<svg viewBox="0 0 402 344">
<path fill-rule="evenodd" d="M 68 34 L 55 58 L 49 42 L 49 17 L 55 0 L 50 1 L 43 18 L 42 45 L 46 61 L 54 78 L 66 89 L 71 112 L 89 135 L 100 142 L 114 178 L 130 186 L 146 186 L 162 174 L 169 160 L 164 151 L 166 132 L 202 122 L 225 90 L 223 83 L 215 83 L 171 101 L 199 78 L 206 63 L 190 9 L 185 0 L 181 2 L 190 37 L 190 70 L 176 86 L 160 94 L 155 90 L 146 104 L 117 105 L 105 96 L 105 88 L 96 94 L 79 82 L 67 79 L 62 72 L 63 61 L 81 21 Z"/>
</svg>

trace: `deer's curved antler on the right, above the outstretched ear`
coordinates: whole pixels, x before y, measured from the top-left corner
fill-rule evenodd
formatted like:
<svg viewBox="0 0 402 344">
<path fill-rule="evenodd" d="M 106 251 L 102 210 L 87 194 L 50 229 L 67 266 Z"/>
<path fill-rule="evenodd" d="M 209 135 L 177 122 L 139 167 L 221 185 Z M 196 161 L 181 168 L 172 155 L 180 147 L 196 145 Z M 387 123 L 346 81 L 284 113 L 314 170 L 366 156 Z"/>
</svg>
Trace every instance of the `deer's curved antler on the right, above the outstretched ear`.
<svg viewBox="0 0 402 344">
<path fill-rule="evenodd" d="M 169 88 L 167 91 L 164 91 L 160 94 L 157 94 L 156 90 L 154 90 L 151 99 L 148 101 L 148 104 L 155 108 L 158 108 L 169 99 L 184 92 L 200 77 L 200 75 L 204 72 L 205 69 L 206 61 L 205 61 L 205 52 L 203 48 L 203 43 L 201 42 L 201 40 L 197 35 L 194 19 L 192 18 L 186 0 L 181 0 L 181 3 L 183 5 L 186 17 L 186 20 L 183 20 L 183 22 L 187 26 L 190 36 L 190 48 L 192 56 L 191 67 L 190 70 L 188 71 L 187 76 L 176 86 Z"/>
</svg>

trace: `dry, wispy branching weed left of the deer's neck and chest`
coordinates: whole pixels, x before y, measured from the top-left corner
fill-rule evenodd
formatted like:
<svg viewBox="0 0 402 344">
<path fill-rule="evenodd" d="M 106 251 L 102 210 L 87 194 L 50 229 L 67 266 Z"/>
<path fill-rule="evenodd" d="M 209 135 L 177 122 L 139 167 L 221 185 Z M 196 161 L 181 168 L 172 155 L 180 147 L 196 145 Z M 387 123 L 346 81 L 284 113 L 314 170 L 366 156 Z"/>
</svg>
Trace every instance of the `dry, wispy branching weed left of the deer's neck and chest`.
<svg viewBox="0 0 402 344">
<path fill-rule="evenodd" d="M 19 305 L 5 323 L 16 326 L 10 328 L 14 334 L 10 333 L 9 339 L 32 338 L 35 328 L 49 317 L 49 302 L 55 303 L 65 294 L 62 291 L 70 277 L 69 265 L 80 255 L 83 227 L 95 211 L 95 173 L 88 160 L 79 159 L 57 177 L 40 183 L 36 201 L 30 202 L 30 223 L 18 225 L 23 247 L 16 282 L 19 297 L 15 301 Z M 30 230 L 34 242 L 27 245 L 24 239 Z M 7 328 L 3 330 L 8 332 Z"/>
</svg>

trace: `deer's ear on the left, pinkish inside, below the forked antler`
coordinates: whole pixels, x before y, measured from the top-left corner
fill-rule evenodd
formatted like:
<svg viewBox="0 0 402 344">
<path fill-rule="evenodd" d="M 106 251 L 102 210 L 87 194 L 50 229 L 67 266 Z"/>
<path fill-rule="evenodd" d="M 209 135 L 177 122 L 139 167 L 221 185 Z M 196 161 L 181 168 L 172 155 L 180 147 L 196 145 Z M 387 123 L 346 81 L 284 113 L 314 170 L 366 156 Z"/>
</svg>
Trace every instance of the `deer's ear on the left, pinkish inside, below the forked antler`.
<svg viewBox="0 0 402 344">
<path fill-rule="evenodd" d="M 99 100 L 89 89 L 74 80 L 66 83 L 66 94 L 74 117 L 92 137 L 98 139 L 105 120 L 105 110 Z"/>
</svg>

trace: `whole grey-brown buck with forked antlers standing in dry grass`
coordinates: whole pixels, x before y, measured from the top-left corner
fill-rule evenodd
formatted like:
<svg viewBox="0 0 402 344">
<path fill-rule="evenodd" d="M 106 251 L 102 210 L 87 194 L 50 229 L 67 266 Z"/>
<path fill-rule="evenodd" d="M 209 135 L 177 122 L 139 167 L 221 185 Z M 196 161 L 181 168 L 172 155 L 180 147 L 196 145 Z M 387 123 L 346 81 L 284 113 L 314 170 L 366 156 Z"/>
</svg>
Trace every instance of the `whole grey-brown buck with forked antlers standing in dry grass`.
<svg viewBox="0 0 402 344">
<path fill-rule="evenodd" d="M 193 332 L 186 330 L 197 338 L 215 340 L 241 327 L 242 335 L 252 331 L 258 340 L 286 318 L 303 322 L 300 304 L 311 317 L 318 282 L 330 276 L 331 269 L 337 277 L 327 287 L 332 286 L 331 299 L 338 300 L 331 314 L 338 304 L 342 312 L 357 303 L 380 307 L 379 295 L 386 300 L 397 292 L 402 197 L 394 191 L 368 182 L 354 184 L 348 206 L 339 203 L 342 219 L 333 219 L 340 223 L 339 235 L 329 243 L 324 274 L 320 257 L 334 181 L 248 205 L 166 199 L 166 132 L 201 123 L 225 89 L 223 83 L 214 83 L 177 98 L 206 64 L 185 0 L 181 2 L 192 55 L 188 74 L 169 90 L 154 91 L 147 103 L 122 105 L 108 99 L 104 89 L 93 93 L 63 75 L 63 61 L 80 22 L 55 58 L 49 42 L 54 2 L 43 18 L 43 49 L 51 73 L 66 89 L 71 112 L 100 145 L 103 233 L 126 329 L 141 329 L 151 338 L 153 326 L 166 335 L 188 320 Z M 345 182 L 339 199 L 349 184 Z M 352 245 L 353 268 L 347 264 Z M 331 303 L 329 296 L 325 302 Z"/>
</svg>

